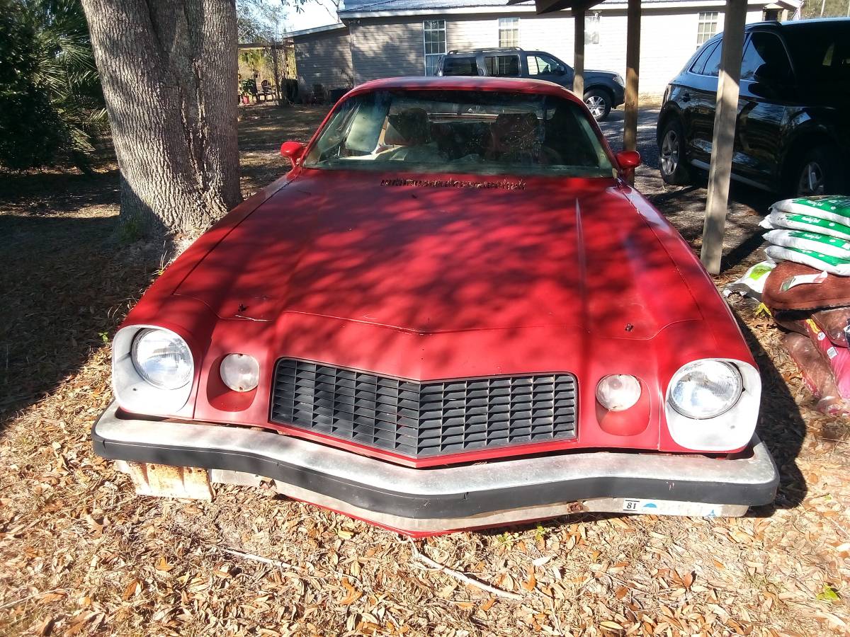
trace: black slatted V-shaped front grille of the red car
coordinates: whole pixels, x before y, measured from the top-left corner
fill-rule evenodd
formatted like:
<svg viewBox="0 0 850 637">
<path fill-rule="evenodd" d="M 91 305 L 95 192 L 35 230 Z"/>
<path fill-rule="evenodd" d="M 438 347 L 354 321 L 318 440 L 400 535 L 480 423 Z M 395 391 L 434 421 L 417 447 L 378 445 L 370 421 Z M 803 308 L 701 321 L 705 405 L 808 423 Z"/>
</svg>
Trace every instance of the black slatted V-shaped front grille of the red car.
<svg viewBox="0 0 850 637">
<path fill-rule="evenodd" d="M 425 458 L 575 437 L 575 376 L 416 382 L 281 358 L 272 422 Z"/>
</svg>

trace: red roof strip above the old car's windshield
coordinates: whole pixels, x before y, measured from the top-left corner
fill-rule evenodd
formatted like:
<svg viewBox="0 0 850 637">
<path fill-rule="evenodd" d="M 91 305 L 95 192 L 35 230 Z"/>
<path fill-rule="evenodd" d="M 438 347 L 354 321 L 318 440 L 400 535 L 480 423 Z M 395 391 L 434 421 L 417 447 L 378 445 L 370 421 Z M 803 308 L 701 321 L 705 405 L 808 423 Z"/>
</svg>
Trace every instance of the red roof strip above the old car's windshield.
<svg viewBox="0 0 850 637">
<path fill-rule="evenodd" d="M 575 97 L 566 88 L 544 82 L 542 80 L 530 80 L 521 77 L 482 77 L 482 76 L 443 76 L 443 77 L 387 77 L 382 80 L 365 82 L 354 87 L 348 95 L 370 93 L 381 90 L 433 90 L 444 89 L 450 91 L 505 91 L 511 93 L 537 93 L 542 95 L 553 95 L 554 97 L 569 99 L 576 104 L 581 104 L 581 99 Z"/>
</svg>

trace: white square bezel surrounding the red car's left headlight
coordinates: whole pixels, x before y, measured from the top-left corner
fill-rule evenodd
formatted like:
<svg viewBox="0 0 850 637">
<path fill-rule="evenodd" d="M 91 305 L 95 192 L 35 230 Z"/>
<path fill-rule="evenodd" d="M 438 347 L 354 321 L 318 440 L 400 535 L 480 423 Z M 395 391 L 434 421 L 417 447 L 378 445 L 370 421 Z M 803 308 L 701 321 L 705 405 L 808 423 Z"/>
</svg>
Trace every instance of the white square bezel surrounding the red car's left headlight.
<svg viewBox="0 0 850 637">
<path fill-rule="evenodd" d="M 190 353 L 189 380 L 183 386 L 174 389 L 158 387 L 139 374 L 139 369 L 133 362 L 133 341 L 142 330 L 162 330 L 183 341 Z M 118 330 L 112 340 L 112 391 L 121 408 L 133 414 L 177 414 L 189 401 L 195 386 L 196 372 L 195 352 L 190 341 L 178 332 L 161 325 L 127 325 Z"/>
</svg>

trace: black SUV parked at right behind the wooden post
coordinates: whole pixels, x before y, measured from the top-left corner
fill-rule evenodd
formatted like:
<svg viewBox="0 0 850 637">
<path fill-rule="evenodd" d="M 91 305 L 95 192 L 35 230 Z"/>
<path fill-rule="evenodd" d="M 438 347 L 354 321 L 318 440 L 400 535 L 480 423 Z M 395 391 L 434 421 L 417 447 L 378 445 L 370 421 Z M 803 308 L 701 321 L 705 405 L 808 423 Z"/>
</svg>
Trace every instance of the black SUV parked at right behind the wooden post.
<svg viewBox="0 0 850 637">
<path fill-rule="evenodd" d="M 746 26 L 732 178 L 779 194 L 850 189 L 850 20 Z M 711 161 L 722 36 L 667 86 L 656 139 L 661 177 L 691 182 Z"/>
</svg>

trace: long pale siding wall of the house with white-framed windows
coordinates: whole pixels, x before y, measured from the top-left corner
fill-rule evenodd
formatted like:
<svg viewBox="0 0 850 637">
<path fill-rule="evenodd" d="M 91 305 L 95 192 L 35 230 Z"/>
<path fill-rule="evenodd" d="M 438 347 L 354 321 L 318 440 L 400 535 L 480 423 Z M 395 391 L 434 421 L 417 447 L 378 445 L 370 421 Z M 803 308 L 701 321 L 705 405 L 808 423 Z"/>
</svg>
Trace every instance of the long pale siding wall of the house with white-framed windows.
<svg viewBox="0 0 850 637">
<path fill-rule="evenodd" d="M 717 31 L 723 31 L 718 8 Z M 591 15 L 593 12 L 589 12 Z M 640 93 L 660 94 L 697 49 L 699 9 L 652 9 L 641 16 Z M 355 82 L 379 77 L 421 76 L 425 72 L 422 20 L 443 19 L 446 48 L 497 47 L 498 18 L 509 14 L 445 14 L 359 19 L 349 23 Z M 519 46 L 547 51 L 573 64 L 574 20 L 570 14 L 519 15 Z M 762 20 L 753 6 L 746 21 Z M 590 25 L 590 20 L 586 23 Z M 598 43 L 585 45 L 587 69 L 613 70 L 626 76 L 626 12 L 600 11 Z"/>
</svg>

